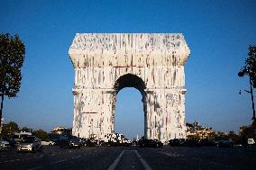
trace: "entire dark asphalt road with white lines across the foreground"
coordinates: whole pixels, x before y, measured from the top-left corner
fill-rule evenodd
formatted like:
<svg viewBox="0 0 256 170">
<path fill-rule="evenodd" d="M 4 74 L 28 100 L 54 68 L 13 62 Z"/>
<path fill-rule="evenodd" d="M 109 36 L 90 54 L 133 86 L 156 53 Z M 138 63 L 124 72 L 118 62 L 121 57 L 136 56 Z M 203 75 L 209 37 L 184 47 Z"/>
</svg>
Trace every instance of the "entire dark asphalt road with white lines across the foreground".
<svg viewBox="0 0 256 170">
<path fill-rule="evenodd" d="M 0 169 L 256 169 L 256 149 L 237 148 L 59 148 L 38 153 L 0 151 Z"/>
</svg>

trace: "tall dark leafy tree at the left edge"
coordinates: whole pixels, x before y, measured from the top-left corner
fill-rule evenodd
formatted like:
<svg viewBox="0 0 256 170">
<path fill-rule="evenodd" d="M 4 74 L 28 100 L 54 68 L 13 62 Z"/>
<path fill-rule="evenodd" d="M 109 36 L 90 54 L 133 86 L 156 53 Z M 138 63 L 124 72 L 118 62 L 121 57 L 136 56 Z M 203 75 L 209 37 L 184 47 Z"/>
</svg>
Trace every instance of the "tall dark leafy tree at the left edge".
<svg viewBox="0 0 256 170">
<path fill-rule="evenodd" d="M 18 35 L 0 34 L 0 120 L 4 96 L 15 97 L 20 90 L 25 46 Z"/>
</svg>

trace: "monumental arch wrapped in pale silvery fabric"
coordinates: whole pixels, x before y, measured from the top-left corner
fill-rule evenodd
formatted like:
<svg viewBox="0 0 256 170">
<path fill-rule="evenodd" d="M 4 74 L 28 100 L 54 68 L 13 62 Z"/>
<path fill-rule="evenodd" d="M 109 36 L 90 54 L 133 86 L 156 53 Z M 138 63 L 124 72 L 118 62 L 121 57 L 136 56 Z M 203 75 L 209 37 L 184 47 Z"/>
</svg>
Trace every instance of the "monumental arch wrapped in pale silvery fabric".
<svg viewBox="0 0 256 170">
<path fill-rule="evenodd" d="M 75 68 L 72 134 L 103 139 L 113 133 L 116 95 L 134 87 L 142 94 L 144 137 L 185 139 L 189 54 L 180 33 L 76 34 L 69 48 Z"/>
</svg>

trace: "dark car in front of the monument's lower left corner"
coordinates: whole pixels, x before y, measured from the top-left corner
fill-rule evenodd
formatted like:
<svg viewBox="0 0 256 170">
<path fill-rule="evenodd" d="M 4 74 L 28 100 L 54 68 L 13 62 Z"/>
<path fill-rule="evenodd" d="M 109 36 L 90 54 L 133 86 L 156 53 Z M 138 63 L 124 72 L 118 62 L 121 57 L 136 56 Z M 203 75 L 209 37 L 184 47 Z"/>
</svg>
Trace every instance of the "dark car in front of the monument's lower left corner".
<svg viewBox="0 0 256 170">
<path fill-rule="evenodd" d="M 60 148 L 81 148 L 83 145 L 78 137 L 72 135 L 59 136 L 58 142 Z"/>
</svg>

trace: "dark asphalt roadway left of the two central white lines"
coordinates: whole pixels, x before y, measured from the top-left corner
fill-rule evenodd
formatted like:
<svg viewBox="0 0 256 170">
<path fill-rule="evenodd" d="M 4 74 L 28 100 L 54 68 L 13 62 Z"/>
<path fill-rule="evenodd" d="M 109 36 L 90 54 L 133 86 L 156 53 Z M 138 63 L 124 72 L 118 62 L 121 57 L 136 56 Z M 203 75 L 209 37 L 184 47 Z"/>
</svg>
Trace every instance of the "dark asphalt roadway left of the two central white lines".
<svg viewBox="0 0 256 170">
<path fill-rule="evenodd" d="M 1 169 L 106 169 L 123 148 L 53 148 L 0 164 Z"/>
</svg>

